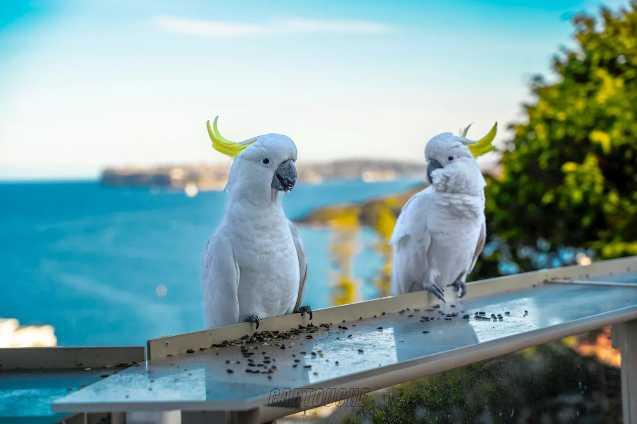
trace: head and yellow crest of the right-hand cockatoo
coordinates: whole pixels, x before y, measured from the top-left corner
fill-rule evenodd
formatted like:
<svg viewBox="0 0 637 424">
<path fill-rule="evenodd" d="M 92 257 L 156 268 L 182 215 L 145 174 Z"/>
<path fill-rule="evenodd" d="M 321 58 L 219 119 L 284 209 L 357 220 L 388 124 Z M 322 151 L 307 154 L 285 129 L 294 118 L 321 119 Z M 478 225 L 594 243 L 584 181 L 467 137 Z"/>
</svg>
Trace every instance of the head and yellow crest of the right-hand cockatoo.
<svg viewBox="0 0 637 424">
<path fill-rule="evenodd" d="M 490 143 L 496 135 L 496 125 L 479 141 L 455 136 L 451 132 L 443 132 L 429 140 L 425 146 L 427 182 L 440 192 L 481 192 L 486 182 L 476 156 L 492 150 Z"/>
</svg>

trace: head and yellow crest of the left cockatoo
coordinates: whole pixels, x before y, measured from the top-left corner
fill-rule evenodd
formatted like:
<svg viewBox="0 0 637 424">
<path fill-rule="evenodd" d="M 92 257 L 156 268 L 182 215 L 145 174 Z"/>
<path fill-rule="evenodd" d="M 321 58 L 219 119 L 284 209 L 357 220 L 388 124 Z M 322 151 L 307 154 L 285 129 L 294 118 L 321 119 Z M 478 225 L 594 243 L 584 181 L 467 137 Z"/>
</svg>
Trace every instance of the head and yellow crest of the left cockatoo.
<svg viewBox="0 0 637 424">
<path fill-rule="evenodd" d="M 274 200 L 279 192 L 287 193 L 294 188 L 297 150 L 292 139 L 281 134 L 265 134 L 233 143 L 219 134 L 217 118 L 213 129 L 208 121 L 213 148 L 234 160 L 225 191 L 240 190 L 260 201 Z"/>
</svg>

